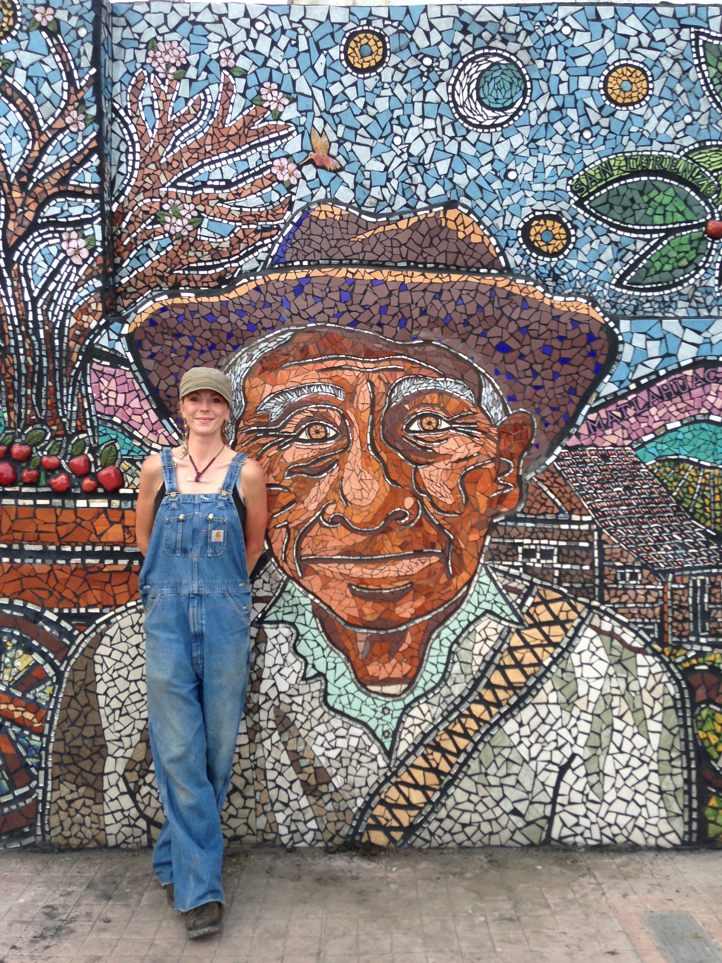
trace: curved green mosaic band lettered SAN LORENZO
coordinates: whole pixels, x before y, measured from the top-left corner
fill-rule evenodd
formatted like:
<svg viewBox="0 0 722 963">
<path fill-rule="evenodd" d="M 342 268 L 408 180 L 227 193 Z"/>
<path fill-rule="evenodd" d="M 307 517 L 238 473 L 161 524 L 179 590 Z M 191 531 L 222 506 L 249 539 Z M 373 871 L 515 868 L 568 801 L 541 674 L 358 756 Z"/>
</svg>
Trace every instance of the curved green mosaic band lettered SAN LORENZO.
<svg viewBox="0 0 722 963">
<path fill-rule="evenodd" d="M 582 170 L 579 177 L 572 181 L 571 190 L 581 201 L 588 201 L 616 181 L 655 176 L 679 181 L 703 197 L 715 197 L 719 191 L 717 179 L 710 176 L 708 170 L 695 164 L 689 157 L 677 157 L 674 154 L 617 154 L 615 157 L 606 157 Z"/>
</svg>

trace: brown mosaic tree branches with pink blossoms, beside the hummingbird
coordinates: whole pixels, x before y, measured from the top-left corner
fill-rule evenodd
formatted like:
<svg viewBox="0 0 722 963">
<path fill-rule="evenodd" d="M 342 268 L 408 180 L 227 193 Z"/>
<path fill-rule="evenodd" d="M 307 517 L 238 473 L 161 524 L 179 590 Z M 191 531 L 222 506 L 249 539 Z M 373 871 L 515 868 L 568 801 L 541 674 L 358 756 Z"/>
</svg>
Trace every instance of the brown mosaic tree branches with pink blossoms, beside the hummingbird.
<svg viewBox="0 0 722 963">
<path fill-rule="evenodd" d="M 205 90 L 181 104 L 186 63 L 176 40 L 151 40 L 121 112 L 127 169 L 113 219 L 121 307 L 157 288 L 159 278 L 168 287 L 211 287 L 232 276 L 254 247 L 277 233 L 298 181 L 287 158 L 248 166 L 251 155 L 295 134 L 279 120 L 293 97 L 266 82 L 231 118 L 235 78 L 245 71 L 224 50 L 216 100 Z M 273 195 L 281 183 L 288 193 Z"/>
</svg>

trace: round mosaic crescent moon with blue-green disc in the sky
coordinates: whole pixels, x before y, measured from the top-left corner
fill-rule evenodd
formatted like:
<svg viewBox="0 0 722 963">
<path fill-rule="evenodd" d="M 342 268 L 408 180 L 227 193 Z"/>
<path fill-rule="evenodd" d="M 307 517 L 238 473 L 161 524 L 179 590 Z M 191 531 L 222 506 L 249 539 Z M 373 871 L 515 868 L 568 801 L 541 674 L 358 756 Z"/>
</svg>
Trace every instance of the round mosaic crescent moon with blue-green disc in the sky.
<svg viewBox="0 0 722 963">
<path fill-rule="evenodd" d="M 451 75 L 454 117 L 474 130 L 502 130 L 529 103 L 529 76 L 503 50 L 483 47 L 464 57 Z"/>
</svg>

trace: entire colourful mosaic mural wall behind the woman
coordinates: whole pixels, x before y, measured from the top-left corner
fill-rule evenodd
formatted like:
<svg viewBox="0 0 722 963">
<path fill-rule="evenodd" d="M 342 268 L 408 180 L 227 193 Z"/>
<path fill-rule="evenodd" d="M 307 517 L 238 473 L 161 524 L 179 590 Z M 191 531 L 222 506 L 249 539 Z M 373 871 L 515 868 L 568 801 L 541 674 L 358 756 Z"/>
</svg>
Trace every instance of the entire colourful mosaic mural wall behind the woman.
<svg viewBox="0 0 722 963">
<path fill-rule="evenodd" d="M 0 15 L 2 845 L 162 825 L 196 364 L 270 494 L 229 840 L 716 845 L 720 9 Z"/>
</svg>

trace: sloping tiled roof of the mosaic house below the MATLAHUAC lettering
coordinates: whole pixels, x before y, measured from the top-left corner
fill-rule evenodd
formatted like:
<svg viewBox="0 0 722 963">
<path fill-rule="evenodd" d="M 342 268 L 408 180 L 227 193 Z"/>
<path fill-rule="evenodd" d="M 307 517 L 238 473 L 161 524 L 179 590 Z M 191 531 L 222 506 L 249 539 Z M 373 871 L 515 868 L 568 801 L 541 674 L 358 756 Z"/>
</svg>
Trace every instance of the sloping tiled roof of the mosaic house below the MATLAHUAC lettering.
<svg viewBox="0 0 722 963">
<path fill-rule="evenodd" d="M 718 567 L 719 546 L 629 448 L 565 449 L 556 466 L 598 524 L 658 572 Z"/>
</svg>

